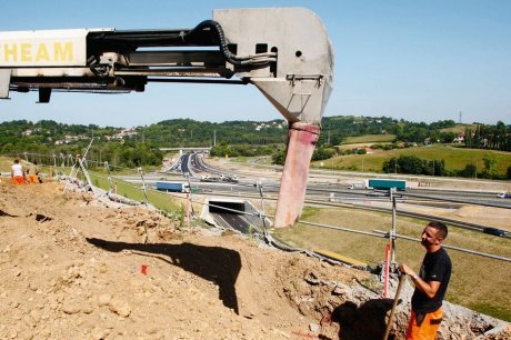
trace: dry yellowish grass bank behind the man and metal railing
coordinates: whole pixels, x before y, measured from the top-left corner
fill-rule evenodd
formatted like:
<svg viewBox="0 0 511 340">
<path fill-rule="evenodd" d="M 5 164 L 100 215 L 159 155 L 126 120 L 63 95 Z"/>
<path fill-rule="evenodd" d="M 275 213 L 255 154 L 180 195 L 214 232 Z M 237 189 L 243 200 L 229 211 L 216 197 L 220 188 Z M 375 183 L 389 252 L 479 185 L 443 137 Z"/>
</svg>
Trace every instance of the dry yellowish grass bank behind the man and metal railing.
<svg viewBox="0 0 511 340">
<path fill-rule="evenodd" d="M 302 220 L 363 231 L 389 231 L 390 214 L 355 209 L 307 208 Z M 398 234 L 419 239 L 425 221 L 398 217 Z M 382 262 L 387 240 L 351 232 L 299 224 L 279 229 L 275 236 L 297 247 L 328 249 L 374 266 Z M 451 227 L 445 242 L 464 249 L 511 258 L 511 241 L 481 232 Z M 451 284 L 447 299 L 480 312 L 511 321 L 511 263 L 449 250 L 453 262 Z M 419 269 L 424 250 L 417 242 L 397 241 L 395 259 Z"/>
</svg>

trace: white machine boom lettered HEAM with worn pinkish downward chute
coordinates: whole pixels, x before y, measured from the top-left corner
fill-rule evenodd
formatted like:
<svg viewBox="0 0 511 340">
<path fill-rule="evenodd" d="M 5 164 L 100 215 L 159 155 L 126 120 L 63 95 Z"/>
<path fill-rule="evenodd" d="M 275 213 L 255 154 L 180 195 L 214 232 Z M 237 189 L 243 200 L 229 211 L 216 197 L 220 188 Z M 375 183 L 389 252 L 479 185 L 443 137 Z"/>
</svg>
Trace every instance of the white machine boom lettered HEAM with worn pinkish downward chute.
<svg viewBox="0 0 511 340">
<path fill-rule="evenodd" d="M 289 122 L 275 227 L 301 214 L 332 78 L 325 29 L 303 8 L 213 10 L 193 29 L 0 32 L 0 98 L 39 91 L 49 102 L 52 91 L 143 91 L 149 82 L 254 84 Z"/>
</svg>

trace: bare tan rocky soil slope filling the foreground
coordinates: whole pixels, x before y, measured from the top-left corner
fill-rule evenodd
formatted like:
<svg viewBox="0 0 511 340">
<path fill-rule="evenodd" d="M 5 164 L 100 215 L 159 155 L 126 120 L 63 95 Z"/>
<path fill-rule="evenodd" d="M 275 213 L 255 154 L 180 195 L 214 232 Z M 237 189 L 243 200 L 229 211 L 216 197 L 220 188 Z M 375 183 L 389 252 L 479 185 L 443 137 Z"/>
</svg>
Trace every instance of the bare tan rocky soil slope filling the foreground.
<svg viewBox="0 0 511 340">
<path fill-rule="evenodd" d="M 62 189 L 0 183 L 0 339 L 383 334 L 392 301 L 378 276 Z M 390 339 L 403 339 L 411 291 Z M 499 320 L 445 314 L 439 339 L 511 339 Z"/>
</svg>

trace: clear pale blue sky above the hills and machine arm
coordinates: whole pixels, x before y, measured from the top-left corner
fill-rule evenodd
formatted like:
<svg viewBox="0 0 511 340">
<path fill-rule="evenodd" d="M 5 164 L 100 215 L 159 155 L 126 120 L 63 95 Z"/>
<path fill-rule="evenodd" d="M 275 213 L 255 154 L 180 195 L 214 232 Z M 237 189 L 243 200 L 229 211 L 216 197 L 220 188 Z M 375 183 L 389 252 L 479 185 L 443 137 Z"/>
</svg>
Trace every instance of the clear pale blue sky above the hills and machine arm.
<svg viewBox="0 0 511 340">
<path fill-rule="evenodd" d="M 324 116 L 387 116 L 511 123 L 511 1 L 0 1 L 0 31 L 193 28 L 214 8 L 305 7 L 335 52 Z M 149 83 L 121 96 L 37 93 L 0 100 L 0 121 L 149 126 L 166 119 L 271 120 L 280 113 L 252 86 Z"/>
</svg>

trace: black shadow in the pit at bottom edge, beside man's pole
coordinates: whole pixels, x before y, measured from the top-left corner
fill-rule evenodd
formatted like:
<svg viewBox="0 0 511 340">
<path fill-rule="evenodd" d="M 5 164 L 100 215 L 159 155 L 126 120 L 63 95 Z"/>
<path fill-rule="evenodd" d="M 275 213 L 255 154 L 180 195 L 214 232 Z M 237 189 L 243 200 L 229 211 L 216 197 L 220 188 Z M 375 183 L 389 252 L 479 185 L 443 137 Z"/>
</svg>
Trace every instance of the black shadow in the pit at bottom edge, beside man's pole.
<svg viewBox="0 0 511 340">
<path fill-rule="evenodd" d="M 392 299 L 369 300 L 357 307 L 353 302 L 344 302 L 332 312 L 332 321 L 339 322 L 342 340 L 381 340 L 385 332 L 385 316 L 392 308 Z M 393 336 L 389 336 L 393 339 Z"/>
</svg>

